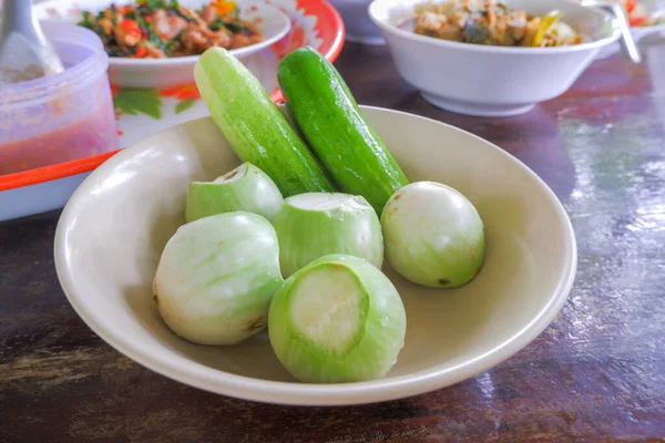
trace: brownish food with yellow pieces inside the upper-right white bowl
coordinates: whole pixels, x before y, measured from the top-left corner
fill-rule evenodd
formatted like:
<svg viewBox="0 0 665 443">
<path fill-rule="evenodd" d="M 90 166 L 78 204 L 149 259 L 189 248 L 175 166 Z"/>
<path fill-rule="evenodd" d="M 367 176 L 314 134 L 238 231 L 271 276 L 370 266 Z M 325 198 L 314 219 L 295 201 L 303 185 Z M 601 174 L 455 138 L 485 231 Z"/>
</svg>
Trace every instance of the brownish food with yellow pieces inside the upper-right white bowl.
<svg viewBox="0 0 665 443">
<path fill-rule="evenodd" d="M 499 0 L 422 3 L 410 21 L 417 34 L 472 44 L 549 48 L 584 41 L 559 10 L 532 16 Z"/>
</svg>

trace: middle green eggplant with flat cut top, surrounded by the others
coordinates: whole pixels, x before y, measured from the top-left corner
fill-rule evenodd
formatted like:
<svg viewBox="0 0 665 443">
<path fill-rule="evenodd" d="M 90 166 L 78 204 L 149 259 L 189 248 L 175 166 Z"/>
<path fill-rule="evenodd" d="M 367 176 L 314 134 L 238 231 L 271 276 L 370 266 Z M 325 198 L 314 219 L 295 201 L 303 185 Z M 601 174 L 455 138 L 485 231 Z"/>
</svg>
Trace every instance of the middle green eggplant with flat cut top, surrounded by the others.
<svg viewBox="0 0 665 443">
<path fill-rule="evenodd" d="M 381 224 L 362 196 L 308 193 L 288 197 L 273 225 L 284 278 L 329 254 L 360 257 L 377 268 L 383 262 Z"/>
</svg>

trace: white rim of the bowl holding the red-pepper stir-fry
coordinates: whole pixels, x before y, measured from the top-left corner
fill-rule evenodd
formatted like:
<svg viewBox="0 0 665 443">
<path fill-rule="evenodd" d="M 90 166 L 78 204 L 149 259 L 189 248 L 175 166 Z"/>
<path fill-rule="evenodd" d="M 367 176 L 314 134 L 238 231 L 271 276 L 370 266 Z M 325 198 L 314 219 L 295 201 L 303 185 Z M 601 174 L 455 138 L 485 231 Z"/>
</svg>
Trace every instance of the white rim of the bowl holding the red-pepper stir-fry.
<svg viewBox="0 0 665 443">
<path fill-rule="evenodd" d="M 259 41 L 258 43 L 249 44 L 248 47 L 232 49 L 228 52 L 234 56 L 242 56 L 249 53 L 254 53 L 260 51 L 265 48 L 268 48 L 270 44 L 279 41 L 284 35 L 286 35 L 291 28 L 291 22 L 289 17 L 284 13 L 279 8 L 275 7 L 270 3 L 264 3 L 256 0 L 243 0 L 249 7 L 259 7 L 266 11 L 270 11 L 270 13 L 278 17 L 282 21 L 282 25 L 279 28 L 279 32 L 269 39 Z M 109 66 L 113 68 L 141 68 L 141 69 L 157 69 L 157 68 L 166 68 L 174 65 L 187 65 L 194 64 L 198 60 L 201 55 L 185 55 L 185 56 L 171 56 L 165 59 L 127 59 L 123 56 L 109 56 Z"/>
</svg>

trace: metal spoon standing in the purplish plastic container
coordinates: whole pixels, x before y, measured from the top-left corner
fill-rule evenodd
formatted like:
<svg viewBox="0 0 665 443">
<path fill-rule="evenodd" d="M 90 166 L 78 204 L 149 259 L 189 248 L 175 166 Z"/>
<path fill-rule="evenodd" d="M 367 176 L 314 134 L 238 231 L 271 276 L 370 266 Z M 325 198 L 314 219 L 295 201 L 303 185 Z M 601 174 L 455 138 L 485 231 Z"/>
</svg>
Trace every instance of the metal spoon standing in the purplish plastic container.
<svg viewBox="0 0 665 443">
<path fill-rule="evenodd" d="M 30 0 L 3 0 L 0 84 L 64 71 L 62 62 L 32 14 Z"/>
</svg>

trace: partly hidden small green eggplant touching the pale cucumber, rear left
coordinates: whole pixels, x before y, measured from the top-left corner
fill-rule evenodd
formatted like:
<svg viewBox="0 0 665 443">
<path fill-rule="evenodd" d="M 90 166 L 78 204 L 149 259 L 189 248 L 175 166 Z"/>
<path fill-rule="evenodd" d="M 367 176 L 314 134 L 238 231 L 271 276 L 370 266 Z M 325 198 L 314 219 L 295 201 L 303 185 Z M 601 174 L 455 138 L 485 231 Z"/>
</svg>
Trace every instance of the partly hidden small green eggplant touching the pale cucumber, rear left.
<svg viewBox="0 0 665 443">
<path fill-rule="evenodd" d="M 284 198 L 275 182 L 252 163 L 243 163 L 214 182 L 192 182 L 187 223 L 211 215 L 245 210 L 273 220 Z"/>
</svg>

